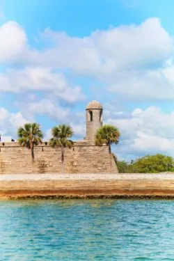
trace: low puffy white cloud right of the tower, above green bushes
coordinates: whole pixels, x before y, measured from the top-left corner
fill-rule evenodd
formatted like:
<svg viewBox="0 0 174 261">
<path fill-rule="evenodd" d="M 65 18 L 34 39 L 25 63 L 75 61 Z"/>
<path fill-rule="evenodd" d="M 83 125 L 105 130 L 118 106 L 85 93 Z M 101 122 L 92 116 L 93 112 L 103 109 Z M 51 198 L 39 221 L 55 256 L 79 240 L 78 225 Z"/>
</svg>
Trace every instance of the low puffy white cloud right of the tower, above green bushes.
<svg viewBox="0 0 174 261">
<path fill-rule="evenodd" d="M 136 108 L 129 118 L 108 118 L 122 134 L 119 155 L 145 155 L 162 152 L 174 156 L 174 111 L 164 113 L 156 106 Z"/>
</svg>

